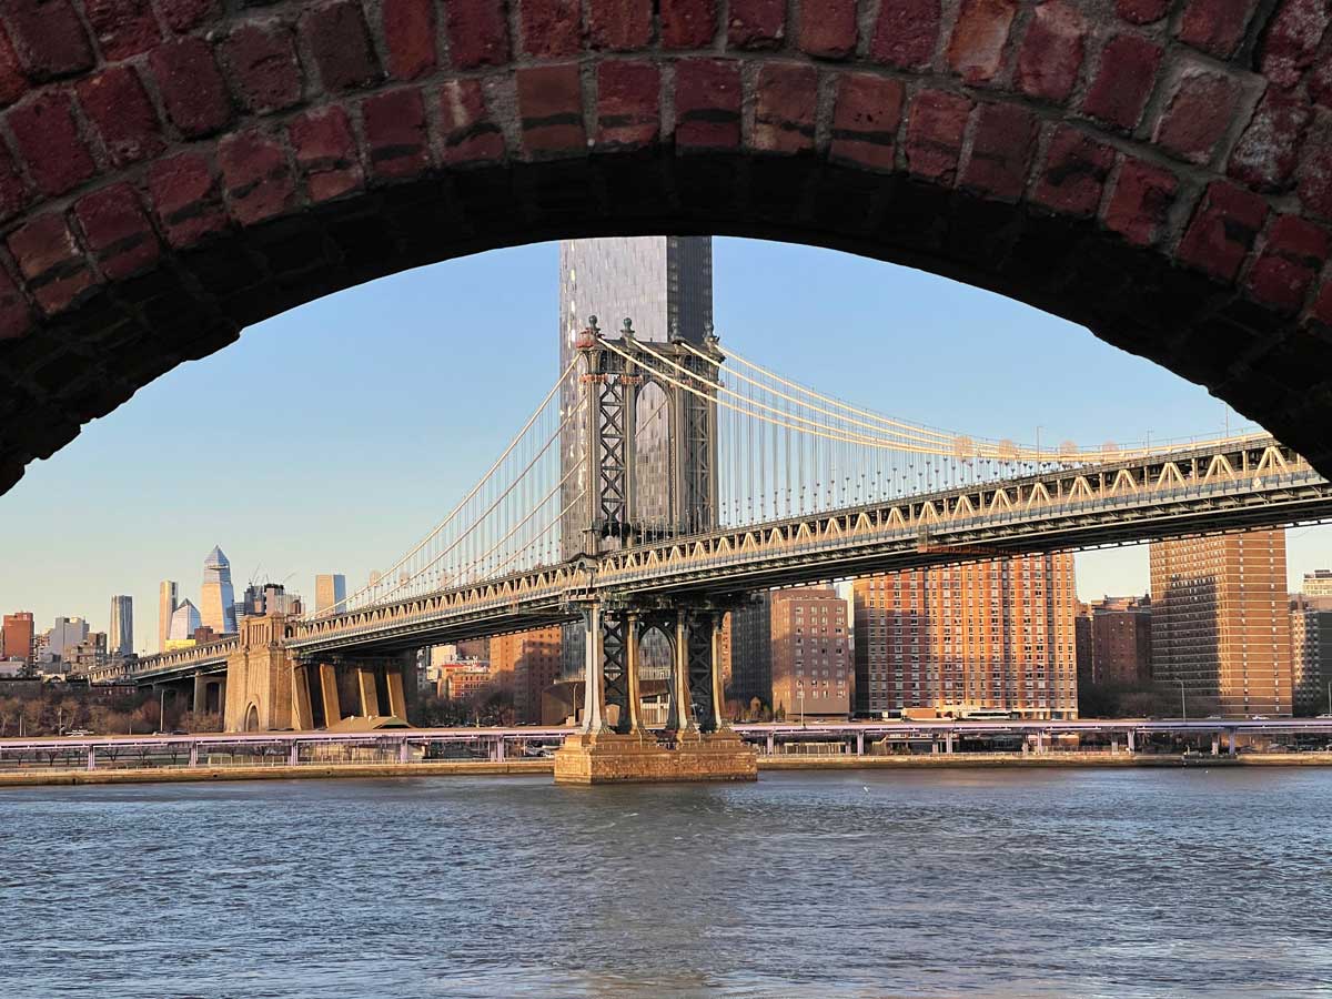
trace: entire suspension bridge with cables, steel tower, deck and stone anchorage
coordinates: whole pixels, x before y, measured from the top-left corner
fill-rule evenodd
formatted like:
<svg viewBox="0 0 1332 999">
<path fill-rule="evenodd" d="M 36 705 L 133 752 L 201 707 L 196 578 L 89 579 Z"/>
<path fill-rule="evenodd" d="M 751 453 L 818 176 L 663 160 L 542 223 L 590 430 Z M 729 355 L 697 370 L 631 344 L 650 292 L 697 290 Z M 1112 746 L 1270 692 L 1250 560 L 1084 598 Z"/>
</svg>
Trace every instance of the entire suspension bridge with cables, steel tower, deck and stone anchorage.
<svg viewBox="0 0 1332 999">
<path fill-rule="evenodd" d="M 645 454 L 649 424 L 666 433 Z M 582 733 L 643 731 L 653 631 L 670 649 L 666 730 L 713 733 L 722 619 L 754 591 L 1329 515 L 1332 485 L 1267 434 L 1054 449 L 972 437 L 840 401 L 715 336 L 646 342 L 631 320 L 590 317 L 507 448 L 370 585 L 147 657 L 131 678 L 192 677 L 196 698 L 220 683 L 228 730 L 309 730 L 349 714 L 340 686 L 360 715 L 405 717 L 416 650 L 573 623 Z"/>
</svg>

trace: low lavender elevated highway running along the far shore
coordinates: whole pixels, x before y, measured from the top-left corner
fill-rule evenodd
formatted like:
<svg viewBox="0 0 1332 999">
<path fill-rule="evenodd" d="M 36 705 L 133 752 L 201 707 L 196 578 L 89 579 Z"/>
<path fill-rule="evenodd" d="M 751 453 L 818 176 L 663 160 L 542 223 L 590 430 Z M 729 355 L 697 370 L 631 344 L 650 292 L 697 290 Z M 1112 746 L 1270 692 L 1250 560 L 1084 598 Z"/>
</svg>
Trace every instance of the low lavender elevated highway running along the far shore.
<svg viewBox="0 0 1332 999">
<path fill-rule="evenodd" d="M 870 742 L 883 738 L 931 739 L 951 745 L 963 735 L 1020 735 L 1040 741 L 1059 735 L 1102 735 L 1122 739 L 1130 749 L 1144 735 L 1319 735 L 1332 741 L 1332 718 L 1272 718 L 1272 719 L 1143 719 L 1143 718 L 1087 718 L 1076 721 L 987 721 L 987 722 L 769 722 L 733 726 L 743 739 L 766 746 L 771 753 L 777 743 L 844 741 L 863 753 Z M 366 747 L 397 754 L 401 762 L 412 759 L 413 747 L 432 743 L 484 747 L 492 759 L 505 759 L 526 743 L 553 745 L 562 742 L 577 729 L 567 726 L 514 726 L 514 727 L 461 727 L 461 729 L 385 729 L 365 733 L 329 731 L 270 731 L 270 733 L 196 733 L 190 735 L 91 735 L 84 738 L 29 738 L 0 739 L 0 767 L 7 762 L 20 762 L 28 757 L 41 761 L 57 758 L 88 761 L 96 767 L 99 754 L 128 755 L 184 755 L 197 765 L 209 751 L 246 750 L 250 755 L 266 755 L 274 761 L 301 762 L 301 751 L 324 746 Z M 257 751 L 257 753 L 256 753 Z M 321 762 L 332 762 L 324 759 Z"/>
</svg>

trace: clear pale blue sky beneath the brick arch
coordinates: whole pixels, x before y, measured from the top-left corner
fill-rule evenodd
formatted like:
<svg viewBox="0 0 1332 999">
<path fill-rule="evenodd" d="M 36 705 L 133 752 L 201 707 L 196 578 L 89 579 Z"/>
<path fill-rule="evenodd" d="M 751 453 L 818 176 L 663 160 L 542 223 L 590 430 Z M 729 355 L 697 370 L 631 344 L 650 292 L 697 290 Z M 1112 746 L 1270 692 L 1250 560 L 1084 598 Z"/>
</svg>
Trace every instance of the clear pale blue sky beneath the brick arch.
<svg viewBox="0 0 1332 999">
<path fill-rule="evenodd" d="M 433 526 L 557 374 L 557 246 L 384 278 L 248 329 L 159 378 L 0 497 L 0 610 L 105 630 L 135 598 L 152 650 L 157 583 L 198 602 L 221 545 L 313 599 L 354 589 Z M 856 404 L 987 437 L 1086 445 L 1216 434 L 1205 390 L 1087 330 L 908 268 L 719 238 L 723 345 Z M 603 324 L 605 325 L 605 324 Z M 1231 429 L 1240 425 L 1231 416 Z M 1332 565 L 1332 527 L 1291 531 L 1292 582 Z M 1147 549 L 1084 553 L 1087 599 L 1147 589 Z"/>
</svg>

